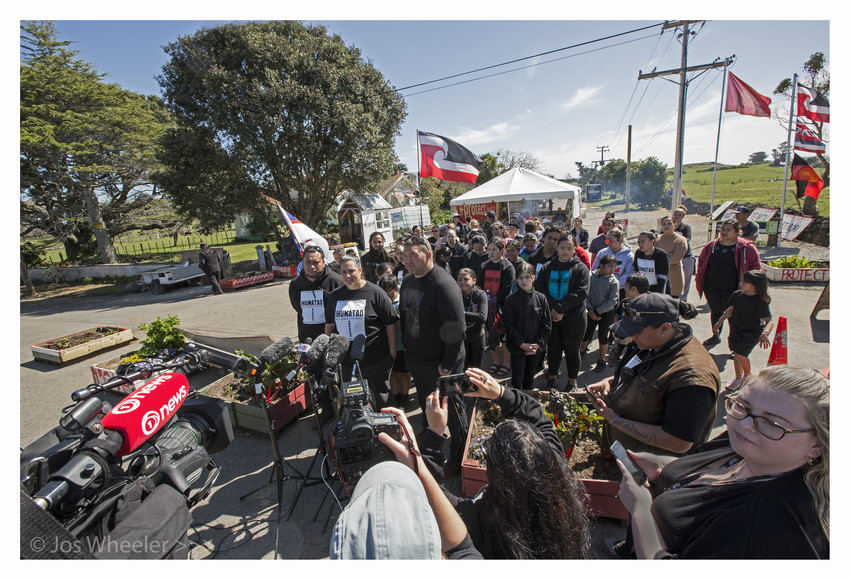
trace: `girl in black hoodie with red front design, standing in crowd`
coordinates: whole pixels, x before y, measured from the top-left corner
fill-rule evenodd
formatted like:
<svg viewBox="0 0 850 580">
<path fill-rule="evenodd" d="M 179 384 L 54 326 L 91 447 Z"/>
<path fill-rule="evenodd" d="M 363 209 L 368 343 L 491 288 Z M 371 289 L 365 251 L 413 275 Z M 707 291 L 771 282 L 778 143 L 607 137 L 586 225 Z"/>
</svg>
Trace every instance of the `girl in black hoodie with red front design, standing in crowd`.
<svg viewBox="0 0 850 580">
<path fill-rule="evenodd" d="M 511 353 L 504 344 L 504 327 L 501 316 L 505 299 L 511 293 L 516 279 L 513 264 L 505 259 L 505 241 L 494 237 L 487 243 L 487 255 L 489 260 L 481 266 L 481 275 L 478 277 L 478 286 L 487 293 L 489 302 L 487 304 L 487 343 L 493 364 L 488 372 L 498 378 L 508 376 L 511 372 L 509 366 Z"/>
</svg>

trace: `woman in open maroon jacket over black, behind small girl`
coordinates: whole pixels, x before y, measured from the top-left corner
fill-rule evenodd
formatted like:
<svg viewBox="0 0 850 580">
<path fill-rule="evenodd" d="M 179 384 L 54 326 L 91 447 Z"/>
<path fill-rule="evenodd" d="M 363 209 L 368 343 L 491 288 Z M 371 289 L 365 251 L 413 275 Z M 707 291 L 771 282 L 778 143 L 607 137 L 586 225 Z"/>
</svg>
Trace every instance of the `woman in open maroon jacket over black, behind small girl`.
<svg viewBox="0 0 850 580">
<path fill-rule="evenodd" d="M 740 290 L 744 272 L 761 268 L 758 249 L 749 240 L 738 236 L 741 225 L 735 220 L 726 220 L 720 225 L 720 237 L 708 242 L 697 261 L 697 293 L 711 310 L 711 328 L 715 328 L 726 311 L 729 297 Z M 720 327 L 722 330 L 722 325 Z M 703 342 L 705 346 L 720 343 L 720 333 L 712 334 Z"/>
</svg>

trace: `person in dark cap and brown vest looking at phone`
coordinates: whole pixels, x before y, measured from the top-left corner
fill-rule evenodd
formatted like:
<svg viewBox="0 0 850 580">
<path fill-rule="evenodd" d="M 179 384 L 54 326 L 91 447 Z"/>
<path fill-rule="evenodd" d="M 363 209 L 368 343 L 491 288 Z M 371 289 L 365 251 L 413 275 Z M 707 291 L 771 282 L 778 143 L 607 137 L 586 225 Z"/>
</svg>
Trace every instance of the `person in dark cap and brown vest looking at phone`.
<svg viewBox="0 0 850 580">
<path fill-rule="evenodd" d="M 680 308 L 666 294 L 641 294 L 611 326 L 615 337 L 631 340 L 614 376 L 588 387 L 607 421 L 606 444 L 682 455 L 708 437 L 720 373 L 691 327 L 679 322 Z"/>
</svg>

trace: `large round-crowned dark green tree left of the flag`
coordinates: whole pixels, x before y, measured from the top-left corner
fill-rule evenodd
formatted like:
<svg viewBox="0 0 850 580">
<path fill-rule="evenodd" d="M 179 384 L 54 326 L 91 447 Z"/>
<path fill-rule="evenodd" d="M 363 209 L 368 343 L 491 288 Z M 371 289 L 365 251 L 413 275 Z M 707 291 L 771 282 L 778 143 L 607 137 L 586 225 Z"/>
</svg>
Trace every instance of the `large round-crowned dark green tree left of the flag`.
<svg viewBox="0 0 850 580">
<path fill-rule="evenodd" d="M 265 194 L 316 226 L 340 191 L 392 173 L 404 101 L 324 27 L 228 24 L 165 51 L 157 80 L 179 126 L 162 147 L 162 183 L 192 217 L 232 219 Z"/>
</svg>

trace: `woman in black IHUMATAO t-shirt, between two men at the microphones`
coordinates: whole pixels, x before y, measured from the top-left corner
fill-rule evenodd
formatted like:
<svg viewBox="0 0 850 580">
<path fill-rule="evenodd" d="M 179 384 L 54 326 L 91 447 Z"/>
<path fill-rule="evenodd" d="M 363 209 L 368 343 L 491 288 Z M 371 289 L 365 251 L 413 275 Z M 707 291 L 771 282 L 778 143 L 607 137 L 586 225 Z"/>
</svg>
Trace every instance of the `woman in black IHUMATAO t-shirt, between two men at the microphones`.
<svg viewBox="0 0 850 580">
<path fill-rule="evenodd" d="M 369 383 L 375 408 L 387 407 L 393 404 L 389 377 L 396 355 L 398 315 L 386 292 L 363 277 L 360 258 L 344 256 L 339 274 L 345 285 L 331 292 L 325 302 L 325 334 L 338 332 L 352 342 L 358 334 L 366 337 L 360 372 Z M 346 379 L 353 366 L 349 352 L 343 362 Z"/>
</svg>

